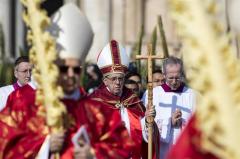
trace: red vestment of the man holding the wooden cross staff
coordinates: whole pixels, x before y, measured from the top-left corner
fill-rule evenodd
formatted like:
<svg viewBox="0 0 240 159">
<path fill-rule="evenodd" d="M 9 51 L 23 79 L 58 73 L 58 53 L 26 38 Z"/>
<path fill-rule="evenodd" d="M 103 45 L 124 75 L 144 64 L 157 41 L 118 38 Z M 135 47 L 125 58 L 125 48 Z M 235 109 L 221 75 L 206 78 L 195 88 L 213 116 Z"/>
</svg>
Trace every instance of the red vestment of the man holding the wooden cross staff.
<svg viewBox="0 0 240 159">
<path fill-rule="evenodd" d="M 135 143 L 135 150 L 132 158 L 147 158 L 147 143 L 143 140 L 140 122 L 140 120 L 145 116 L 145 107 L 137 95 L 124 87 L 122 96 L 115 96 L 107 90 L 104 84 L 102 84 L 98 89 L 89 95 L 89 98 L 102 102 L 105 107 L 110 108 L 112 111 L 118 113 L 120 109 L 120 107 L 118 107 L 119 104 L 122 104 L 122 106 L 127 108 L 130 122 L 130 136 Z M 158 138 L 158 131 L 155 131 L 155 134 L 157 134 L 155 137 Z M 153 136 L 153 141 L 158 142 L 158 139 L 154 139 Z M 156 143 L 154 146 L 158 146 L 158 144 Z"/>
</svg>

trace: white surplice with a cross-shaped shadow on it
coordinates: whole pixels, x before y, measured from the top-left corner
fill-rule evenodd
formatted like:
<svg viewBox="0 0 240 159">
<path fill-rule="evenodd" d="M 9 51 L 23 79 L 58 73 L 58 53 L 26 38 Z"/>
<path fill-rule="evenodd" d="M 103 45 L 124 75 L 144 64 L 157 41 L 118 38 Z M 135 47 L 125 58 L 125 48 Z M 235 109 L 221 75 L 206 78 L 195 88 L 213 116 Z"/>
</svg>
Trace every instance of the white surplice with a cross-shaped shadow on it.
<svg viewBox="0 0 240 159">
<path fill-rule="evenodd" d="M 148 103 L 147 91 L 143 97 L 144 105 Z M 192 115 L 196 105 L 196 92 L 184 86 L 182 92 L 165 92 L 162 86 L 153 89 L 153 105 L 156 109 L 155 122 L 161 134 L 160 158 L 164 159 L 172 144 L 175 143 L 182 128 L 186 125 Z M 180 109 L 182 112 L 182 126 L 173 127 L 171 125 L 171 114 Z"/>
</svg>

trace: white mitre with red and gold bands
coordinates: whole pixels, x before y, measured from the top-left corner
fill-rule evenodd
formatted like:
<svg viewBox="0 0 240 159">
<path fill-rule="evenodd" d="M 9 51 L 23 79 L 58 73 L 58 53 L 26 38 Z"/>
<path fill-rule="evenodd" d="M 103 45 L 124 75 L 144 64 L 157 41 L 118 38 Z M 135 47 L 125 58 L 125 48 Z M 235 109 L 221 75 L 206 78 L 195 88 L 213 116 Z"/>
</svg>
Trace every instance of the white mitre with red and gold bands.
<svg viewBox="0 0 240 159">
<path fill-rule="evenodd" d="M 97 65 L 104 76 L 112 73 L 125 74 L 129 65 L 129 57 L 123 46 L 112 40 L 99 53 Z"/>
</svg>

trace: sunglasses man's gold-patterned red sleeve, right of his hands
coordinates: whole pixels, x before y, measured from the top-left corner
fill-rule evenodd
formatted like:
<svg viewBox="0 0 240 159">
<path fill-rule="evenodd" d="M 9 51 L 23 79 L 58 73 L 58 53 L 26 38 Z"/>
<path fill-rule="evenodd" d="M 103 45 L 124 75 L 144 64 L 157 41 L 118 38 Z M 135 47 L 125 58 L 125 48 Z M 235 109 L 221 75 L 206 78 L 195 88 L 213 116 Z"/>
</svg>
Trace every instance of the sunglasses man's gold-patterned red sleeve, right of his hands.
<svg viewBox="0 0 240 159">
<path fill-rule="evenodd" d="M 121 121 L 119 112 L 104 107 L 97 101 L 88 100 L 81 105 L 81 116 L 85 116 L 82 120 L 87 124 L 96 157 L 129 158 L 134 144 Z"/>
</svg>

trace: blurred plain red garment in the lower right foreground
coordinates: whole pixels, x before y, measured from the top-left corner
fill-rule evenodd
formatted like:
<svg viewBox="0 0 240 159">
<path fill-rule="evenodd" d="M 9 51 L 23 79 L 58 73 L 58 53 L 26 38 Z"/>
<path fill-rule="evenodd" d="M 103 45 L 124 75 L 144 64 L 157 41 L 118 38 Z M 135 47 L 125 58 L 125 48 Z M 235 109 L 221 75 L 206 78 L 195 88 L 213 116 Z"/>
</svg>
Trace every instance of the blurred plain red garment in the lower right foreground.
<svg viewBox="0 0 240 159">
<path fill-rule="evenodd" d="M 167 159 L 217 159 L 214 155 L 201 151 L 201 132 L 196 117 L 193 116 L 183 130 L 177 143 L 171 148 Z"/>
</svg>

